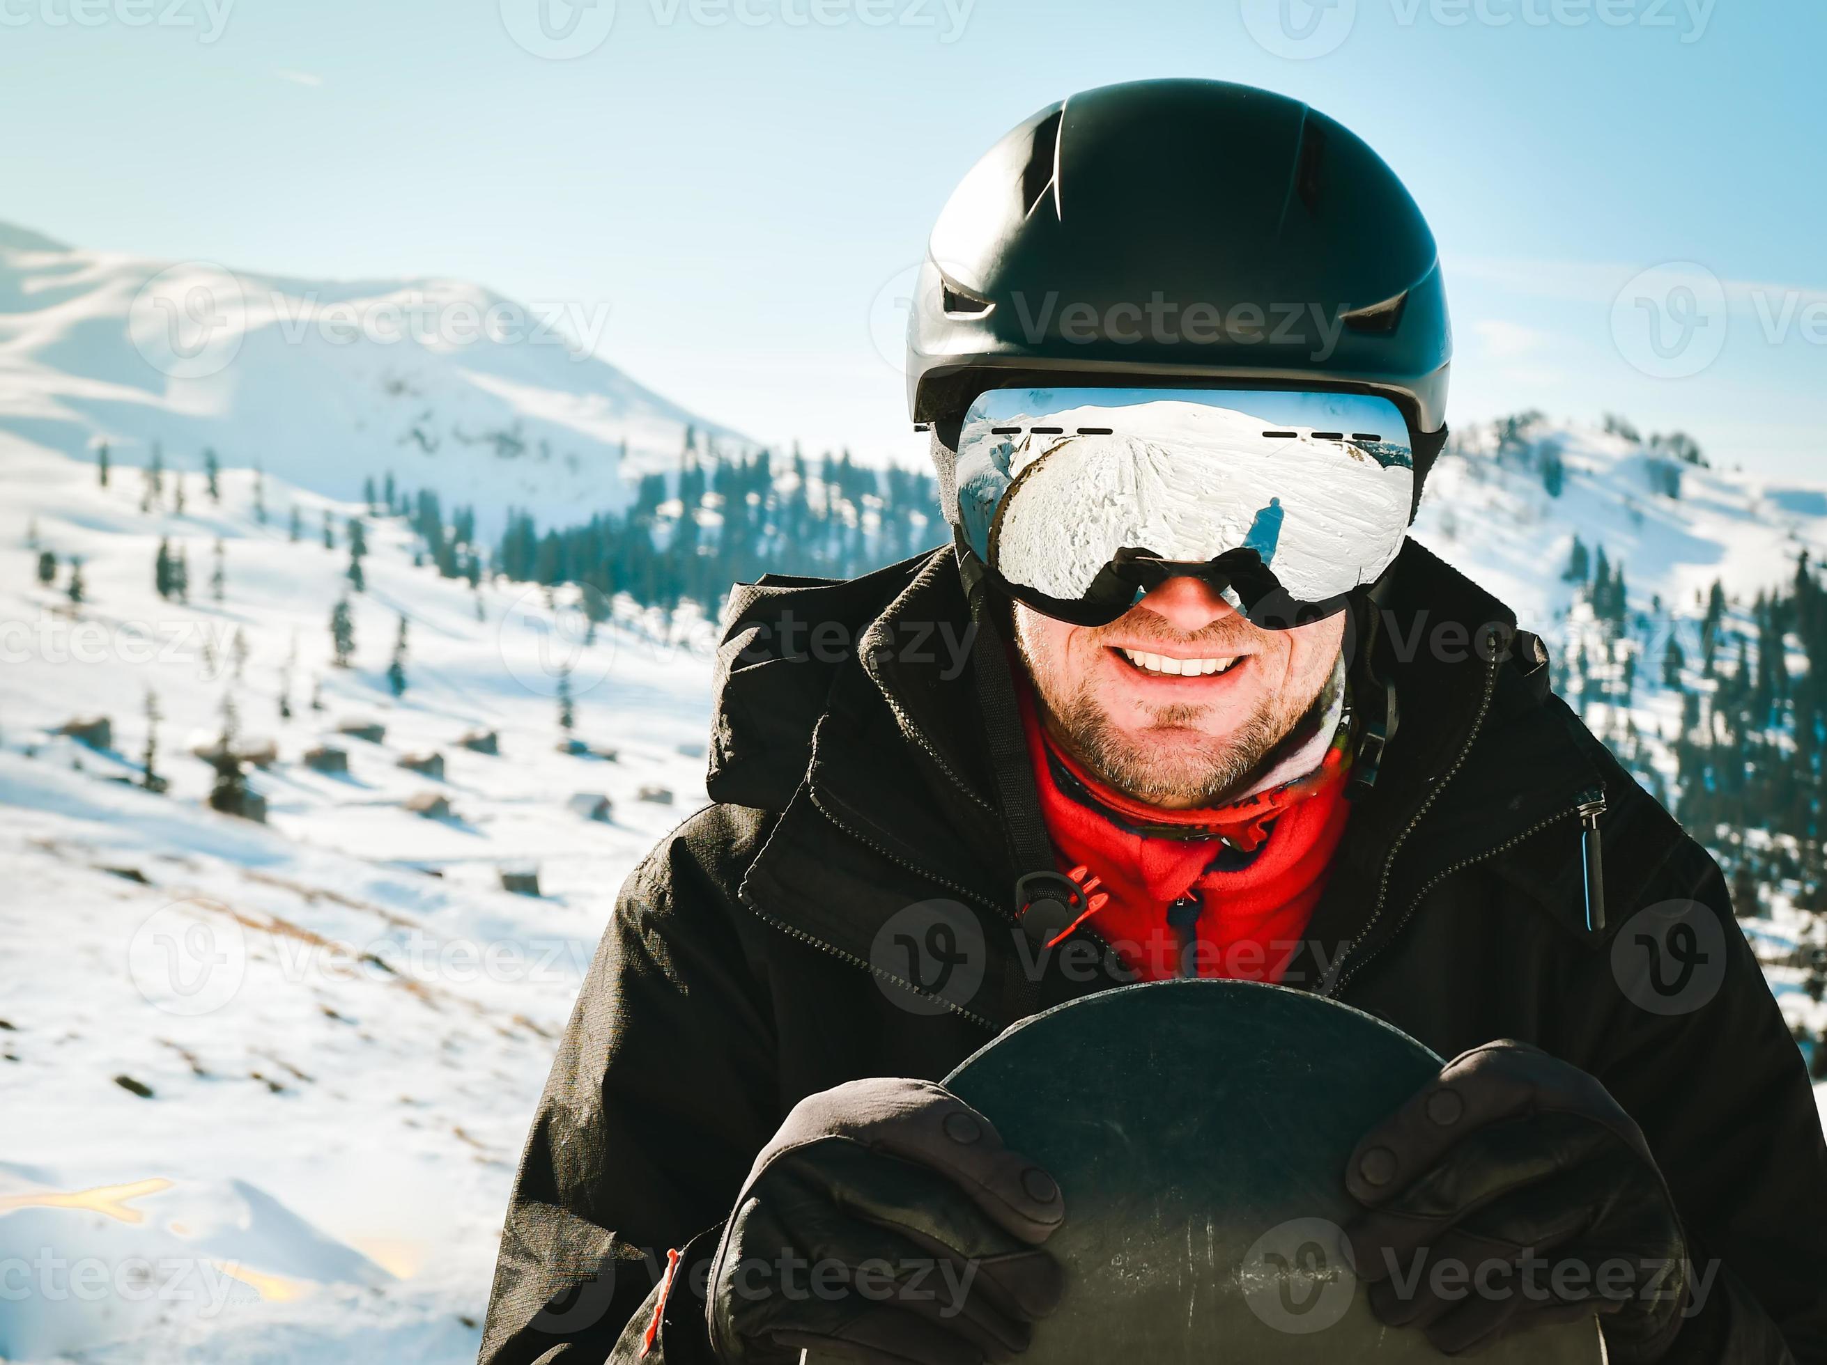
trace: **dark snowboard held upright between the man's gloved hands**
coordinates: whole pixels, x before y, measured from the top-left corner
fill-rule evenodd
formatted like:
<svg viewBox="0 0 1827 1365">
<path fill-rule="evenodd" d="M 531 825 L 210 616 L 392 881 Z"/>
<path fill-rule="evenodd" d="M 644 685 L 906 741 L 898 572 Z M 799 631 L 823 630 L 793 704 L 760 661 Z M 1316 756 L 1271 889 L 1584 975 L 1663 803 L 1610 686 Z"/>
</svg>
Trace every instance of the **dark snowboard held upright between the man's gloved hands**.
<svg viewBox="0 0 1827 1365">
<path fill-rule="evenodd" d="M 1104 991 L 977 1051 L 945 1084 L 1065 1193 L 1069 1288 L 1023 1363 L 1443 1360 L 1376 1319 L 1339 1241 L 1352 1148 L 1440 1066 L 1348 1006 L 1215 980 Z M 1602 1360 L 1595 1318 L 1480 1356 Z"/>
</svg>

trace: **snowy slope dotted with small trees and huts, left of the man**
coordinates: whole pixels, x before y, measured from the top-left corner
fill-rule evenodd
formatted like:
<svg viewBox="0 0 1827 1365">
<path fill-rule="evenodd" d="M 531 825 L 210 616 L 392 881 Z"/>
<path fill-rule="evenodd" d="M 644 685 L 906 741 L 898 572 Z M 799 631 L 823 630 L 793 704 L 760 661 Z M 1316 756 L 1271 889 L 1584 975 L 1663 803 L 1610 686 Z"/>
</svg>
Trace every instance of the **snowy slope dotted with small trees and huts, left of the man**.
<svg viewBox="0 0 1827 1365">
<path fill-rule="evenodd" d="M 0 1358 L 473 1358 L 519 1144 L 614 891 L 703 803 L 709 628 L 667 644 L 625 610 L 585 646 L 563 600 L 488 586 L 477 620 L 468 586 L 411 568 L 380 520 L 356 668 L 334 670 L 347 555 L 281 529 L 294 500 L 316 526 L 318 495 L 269 478 L 259 526 L 230 471 L 221 507 L 144 516 L 137 476 L 100 489 L 4 434 L 0 478 L 0 1261 L 38 1266 L 40 1290 L 0 1312 Z M 84 557 L 75 611 L 66 575 L 37 586 L 31 524 Z M 152 591 L 159 537 L 188 546 L 190 606 Z M 577 737 L 616 761 L 557 752 L 566 662 Z M 137 772 L 148 688 L 166 796 L 108 781 Z M 278 745 L 254 776 L 265 827 L 203 807 L 212 774 L 188 750 L 225 692 L 245 737 Z M 79 714 L 111 717 L 115 754 L 51 734 Z M 382 743 L 331 735 L 343 719 L 382 723 Z M 471 728 L 501 755 L 457 746 Z M 347 776 L 300 763 L 325 737 Z M 415 750 L 444 755 L 444 781 L 396 766 Z M 639 799 L 650 785 L 674 803 Z M 426 790 L 451 818 L 402 808 Z M 568 810 L 577 792 L 612 819 Z M 501 891 L 502 869 L 537 869 L 543 896 Z M 102 1288 L 75 1292 L 77 1266 Z"/>
</svg>

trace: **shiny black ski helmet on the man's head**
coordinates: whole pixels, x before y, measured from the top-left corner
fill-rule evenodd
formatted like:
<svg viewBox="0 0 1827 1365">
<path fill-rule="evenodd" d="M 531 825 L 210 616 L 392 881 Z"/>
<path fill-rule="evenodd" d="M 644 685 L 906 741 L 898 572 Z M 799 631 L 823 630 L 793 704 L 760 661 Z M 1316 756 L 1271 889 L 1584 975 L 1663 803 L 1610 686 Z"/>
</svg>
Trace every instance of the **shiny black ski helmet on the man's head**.
<svg viewBox="0 0 1827 1365">
<path fill-rule="evenodd" d="M 1072 95 L 952 192 L 908 318 L 908 405 L 956 518 L 956 423 L 987 389 L 1343 389 L 1445 443 L 1440 255 L 1396 173 L 1299 100 L 1222 80 Z"/>
</svg>

